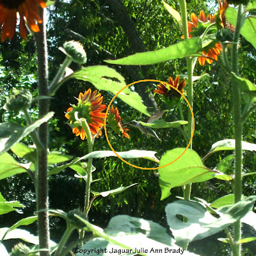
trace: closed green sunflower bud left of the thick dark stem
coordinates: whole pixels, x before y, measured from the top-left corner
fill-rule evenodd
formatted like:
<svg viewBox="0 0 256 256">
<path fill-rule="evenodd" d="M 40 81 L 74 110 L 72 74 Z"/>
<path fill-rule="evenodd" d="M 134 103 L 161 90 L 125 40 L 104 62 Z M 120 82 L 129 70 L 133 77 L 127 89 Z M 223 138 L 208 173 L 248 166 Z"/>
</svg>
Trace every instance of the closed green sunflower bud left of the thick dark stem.
<svg viewBox="0 0 256 256">
<path fill-rule="evenodd" d="M 15 90 L 10 99 L 6 100 L 4 109 L 8 111 L 18 112 L 24 108 L 28 109 L 32 101 L 32 95 L 28 90 Z"/>
</svg>

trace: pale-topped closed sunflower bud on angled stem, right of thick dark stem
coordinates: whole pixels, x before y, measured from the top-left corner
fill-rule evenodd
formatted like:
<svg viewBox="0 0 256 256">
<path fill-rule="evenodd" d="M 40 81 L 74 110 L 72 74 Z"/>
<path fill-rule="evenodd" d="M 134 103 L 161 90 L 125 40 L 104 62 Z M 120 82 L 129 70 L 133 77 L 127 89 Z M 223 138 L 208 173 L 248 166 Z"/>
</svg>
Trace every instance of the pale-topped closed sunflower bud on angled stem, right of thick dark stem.
<svg viewBox="0 0 256 256">
<path fill-rule="evenodd" d="M 64 48 L 64 49 L 63 49 Z M 84 64 L 87 61 L 86 52 L 83 45 L 74 40 L 65 42 L 63 48 L 60 48 L 68 57 L 78 64 Z M 63 51 L 64 50 L 64 51 Z"/>
</svg>

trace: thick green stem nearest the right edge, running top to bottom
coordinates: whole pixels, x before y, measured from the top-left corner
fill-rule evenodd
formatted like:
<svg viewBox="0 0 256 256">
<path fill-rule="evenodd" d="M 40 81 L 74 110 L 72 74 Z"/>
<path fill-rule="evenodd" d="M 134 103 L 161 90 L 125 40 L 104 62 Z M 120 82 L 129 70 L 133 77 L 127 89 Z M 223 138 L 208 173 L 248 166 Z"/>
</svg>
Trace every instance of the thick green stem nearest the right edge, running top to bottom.
<svg viewBox="0 0 256 256">
<path fill-rule="evenodd" d="M 243 26 L 243 6 L 240 4 L 237 10 L 237 22 L 236 31 L 234 33 L 231 54 L 231 67 L 232 71 L 238 74 L 238 42 L 240 30 Z M 236 140 L 236 164 L 235 164 L 235 203 L 239 202 L 242 198 L 242 169 L 243 169 L 243 122 L 241 120 L 241 92 L 234 78 L 232 81 L 232 98 L 233 98 L 233 108 L 234 108 L 234 125 L 235 125 L 235 140 Z M 238 244 L 239 239 L 241 239 L 241 221 L 237 221 L 234 224 L 234 256 L 241 255 L 241 244 Z"/>
</svg>

